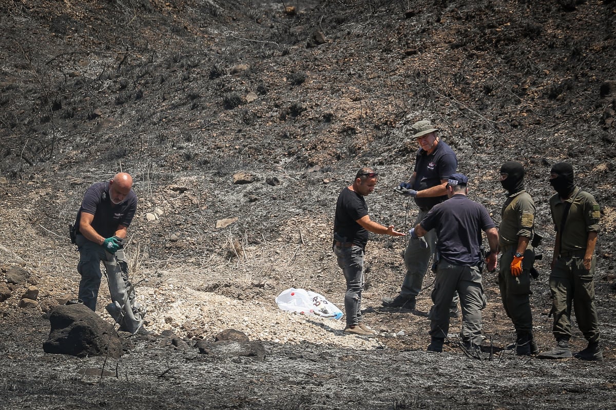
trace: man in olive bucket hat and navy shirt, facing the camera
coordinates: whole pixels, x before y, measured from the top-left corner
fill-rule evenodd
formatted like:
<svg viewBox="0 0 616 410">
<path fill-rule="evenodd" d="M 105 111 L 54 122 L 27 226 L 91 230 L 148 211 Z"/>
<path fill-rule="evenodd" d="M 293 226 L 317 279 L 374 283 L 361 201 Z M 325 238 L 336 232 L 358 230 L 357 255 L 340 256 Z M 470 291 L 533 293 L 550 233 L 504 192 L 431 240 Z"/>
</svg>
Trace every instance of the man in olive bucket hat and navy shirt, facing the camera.
<svg viewBox="0 0 616 410">
<path fill-rule="evenodd" d="M 411 178 L 401 183 L 396 191 L 415 200 L 419 212 L 414 225 L 418 224 L 434 205 L 447 200 L 447 180 L 458 167 L 456 154 L 445 141 L 440 140 L 437 131 L 429 120 L 421 120 L 405 128 L 405 133 L 415 140 L 420 148 L 415 157 Z M 395 298 L 383 298 L 383 306 L 415 309 L 416 297 L 421 291 L 430 257 L 436 250 L 437 233 L 428 232 L 424 239 L 408 241 L 404 253 L 407 274 L 402 288 Z M 453 299 L 450 309 L 453 317 L 457 316 L 456 299 L 457 297 Z"/>
</svg>

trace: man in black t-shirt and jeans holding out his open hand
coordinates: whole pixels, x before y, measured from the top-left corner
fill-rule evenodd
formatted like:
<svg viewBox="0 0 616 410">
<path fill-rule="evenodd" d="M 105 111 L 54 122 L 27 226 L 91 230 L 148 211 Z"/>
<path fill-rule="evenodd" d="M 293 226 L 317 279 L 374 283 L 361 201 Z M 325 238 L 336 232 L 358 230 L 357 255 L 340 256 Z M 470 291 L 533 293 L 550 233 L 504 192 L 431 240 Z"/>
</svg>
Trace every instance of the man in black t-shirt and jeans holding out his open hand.
<svg viewBox="0 0 616 410">
<path fill-rule="evenodd" d="M 346 279 L 344 310 L 347 326 L 345 334 L 364 337 L 376 336 L 376 332 L 363 323 L 362 289 L 363 258 L 368 243 L 368 231 L 375 234 L 402 236 L 394 226 L 385 227 L 370 220 L 365 196 L 375 190 L 378 173 L 370 168 L 361 168 L 350 186 L 342 189 L 336 202 L 334 216 L 333 251 Z"/>
</svg>

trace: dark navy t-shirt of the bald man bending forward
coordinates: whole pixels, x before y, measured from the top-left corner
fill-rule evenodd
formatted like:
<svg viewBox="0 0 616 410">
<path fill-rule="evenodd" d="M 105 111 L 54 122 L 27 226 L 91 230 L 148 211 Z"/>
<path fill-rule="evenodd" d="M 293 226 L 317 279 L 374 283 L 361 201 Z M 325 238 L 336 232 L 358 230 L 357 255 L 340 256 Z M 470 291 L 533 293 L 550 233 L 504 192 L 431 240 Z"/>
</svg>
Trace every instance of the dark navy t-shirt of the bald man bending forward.
<svg viewBox="0 0 616 410">
<path fill-rule="evenodd" d="M 89 187 L 83 197 L 81 208 L 77 213 L 75 226 L 79 232 L 81 213 L 94 215 L 92 227 L 102 237 L 108 238 L 115 235 L 119 225 L 128 227 L 137 211 L 137 195 L 129 192 L 124 201 L 113 205 L 109 196 L 109 183 L 98 182 Z"/>
</svg>

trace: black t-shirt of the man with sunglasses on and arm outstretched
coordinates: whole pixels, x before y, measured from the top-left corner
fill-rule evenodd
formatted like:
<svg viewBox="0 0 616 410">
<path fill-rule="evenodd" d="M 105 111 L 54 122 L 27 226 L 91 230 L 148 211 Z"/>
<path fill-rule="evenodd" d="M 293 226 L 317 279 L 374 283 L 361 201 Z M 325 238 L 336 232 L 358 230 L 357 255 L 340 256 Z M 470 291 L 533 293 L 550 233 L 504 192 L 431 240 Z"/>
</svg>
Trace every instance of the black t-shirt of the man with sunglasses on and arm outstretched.
<svg viewBox="0 0 616 410">
<path fill-rule="evenodd" d="M 346 238 L 344 242 L 353 242 L 364 248 L 368 243 L 368 231 L 356 221 L 366 215 L 368 215 L 368 205 L 363 195 L 345 187 L 336 202 L 334 232 Z"/>
</svg>

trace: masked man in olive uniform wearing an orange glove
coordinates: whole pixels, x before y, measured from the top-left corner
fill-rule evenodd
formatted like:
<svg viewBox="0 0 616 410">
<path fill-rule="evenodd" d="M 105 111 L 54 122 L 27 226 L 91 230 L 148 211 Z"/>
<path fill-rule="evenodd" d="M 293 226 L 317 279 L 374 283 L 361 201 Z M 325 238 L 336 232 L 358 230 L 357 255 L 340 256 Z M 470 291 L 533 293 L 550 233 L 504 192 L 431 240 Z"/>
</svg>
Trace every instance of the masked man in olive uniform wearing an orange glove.
<svg viewBox="0 0 616 410">
<path fill-rule="evenodd" d="M 535 255 L 530 239 L 535 221 L 535 202 L 524 189 L 524 167 L 519 162 L 505 162 L 500 181 L 507 190 L 501 209 L 498 229 L 502 252 L 498 286 L 507 316 L 516 329 L 516 354 L 539 353 L 533 339 L 533 317 L 530 312 L 530 268 Z"/>
</svg>

